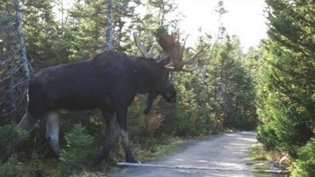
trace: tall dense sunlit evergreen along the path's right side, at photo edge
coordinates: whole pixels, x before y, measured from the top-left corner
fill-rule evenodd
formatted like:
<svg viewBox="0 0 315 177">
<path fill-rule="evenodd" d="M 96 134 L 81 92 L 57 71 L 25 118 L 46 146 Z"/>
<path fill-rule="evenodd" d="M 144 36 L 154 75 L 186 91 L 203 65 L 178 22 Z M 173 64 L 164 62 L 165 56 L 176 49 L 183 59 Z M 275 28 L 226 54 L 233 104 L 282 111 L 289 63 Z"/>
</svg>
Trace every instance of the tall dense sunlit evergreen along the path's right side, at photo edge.
<svg viewBox="0 0 315 177">
<path fill-rule="evenodd" d="M 310 25 L 315 23 L 314 4 L 267 3 L 270 39 L 264 42 L 267 52 L 257 78 L 258 140 L 267 149 L 297 158 L 315 128 L 315 35 Z"/>
</svg>

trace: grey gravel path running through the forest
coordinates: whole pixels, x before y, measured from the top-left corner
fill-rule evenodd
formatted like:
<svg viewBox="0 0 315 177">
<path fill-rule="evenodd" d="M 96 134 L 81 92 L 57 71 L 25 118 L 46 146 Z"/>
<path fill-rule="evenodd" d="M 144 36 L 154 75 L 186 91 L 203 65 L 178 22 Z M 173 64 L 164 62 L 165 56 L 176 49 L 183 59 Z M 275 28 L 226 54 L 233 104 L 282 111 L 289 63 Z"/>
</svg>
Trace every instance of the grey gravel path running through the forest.
<svg viewBox="0 0 315 177">
<path fill-rule="evenodd" d="M 119 168 L 115 177 L 252 177 L 246 165 L 253 132 L 237 132 L 187 143 L 183 150 L 139 166 Z M 122 165 L 119 165 L 122 166 Z"/>
</svg>

